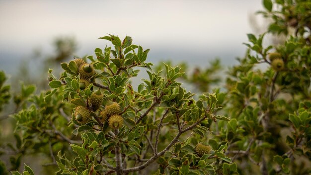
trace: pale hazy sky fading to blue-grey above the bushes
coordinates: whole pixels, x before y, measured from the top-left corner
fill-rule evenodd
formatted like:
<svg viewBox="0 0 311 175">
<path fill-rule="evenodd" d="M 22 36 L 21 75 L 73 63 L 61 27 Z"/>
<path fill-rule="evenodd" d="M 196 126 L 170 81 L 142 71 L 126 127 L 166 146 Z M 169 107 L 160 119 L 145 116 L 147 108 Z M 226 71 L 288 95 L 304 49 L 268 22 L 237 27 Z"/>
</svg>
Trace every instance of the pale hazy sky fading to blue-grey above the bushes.
<svg viewBox="0 0 311 175">
<path fill-rule="evenodd" d="M 208 65 L 243 56 L 249 18 L 261 0 L 0 0 L 0 69 L 32 55 L 53 52 L 55 37 L 73 36 L 75 55 L 92 55 L 109 34 L 131 36 L 150 48 L 148 60 Z"/>
</svg>

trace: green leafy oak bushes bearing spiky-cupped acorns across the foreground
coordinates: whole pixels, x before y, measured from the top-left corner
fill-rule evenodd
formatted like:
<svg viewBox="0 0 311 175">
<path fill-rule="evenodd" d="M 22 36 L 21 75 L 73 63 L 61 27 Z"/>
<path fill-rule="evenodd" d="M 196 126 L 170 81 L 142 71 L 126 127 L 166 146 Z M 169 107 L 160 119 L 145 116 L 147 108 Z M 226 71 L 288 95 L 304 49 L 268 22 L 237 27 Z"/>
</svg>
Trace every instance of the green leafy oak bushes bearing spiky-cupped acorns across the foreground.
<svg viewBox="0 0 311 175">
<path fill-rule="evenodd" d="M 245 57 L 222 87 L 219 61 L 193 74 L 171 64 L 153 71 L 149 49 L 115 35 L 99 38 L 112 47 L 62 63 L 60 77 L 49 70 L 50 90 L 36 95 L 22 86 L 14 97 L 22 109 L 12 115 L 16 144 L 7 148 L 12 174 L 36 152 L 51 158 L 45 166 L 57 175 L 311 173 L 311 2 L 263 5 L 268 31 L 247 34 Z M 267 33 L 288 37 L 265 46 Z M 141 70 L 149 78 L 134 88 Z M 0 106 L 10 97 L 4 80 L 1 73 Z M 25 165 L 22 175 L 33 174 Z"/>
</svg>

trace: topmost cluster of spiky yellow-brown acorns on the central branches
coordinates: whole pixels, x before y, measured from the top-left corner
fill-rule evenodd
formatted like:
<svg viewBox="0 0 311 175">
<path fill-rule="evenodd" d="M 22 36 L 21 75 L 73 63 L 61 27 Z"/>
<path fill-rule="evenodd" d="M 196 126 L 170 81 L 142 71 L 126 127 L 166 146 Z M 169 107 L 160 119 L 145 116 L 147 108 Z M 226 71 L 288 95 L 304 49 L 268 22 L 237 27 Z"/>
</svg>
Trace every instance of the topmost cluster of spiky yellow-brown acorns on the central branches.
<svg viewBox="0 0 311 175">
<path fill-rule="evenodd" d="M 78 66 L 78 74 L 80 76 L 79 86 L 80 89 L 88 87 L 91 79 L 95 76 L 95 70 L 92 64 L 86 63 L 83 59 L 78 58 L 74 60 Z"/>
</svg>

